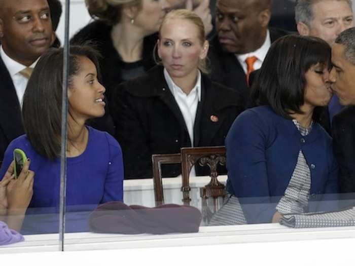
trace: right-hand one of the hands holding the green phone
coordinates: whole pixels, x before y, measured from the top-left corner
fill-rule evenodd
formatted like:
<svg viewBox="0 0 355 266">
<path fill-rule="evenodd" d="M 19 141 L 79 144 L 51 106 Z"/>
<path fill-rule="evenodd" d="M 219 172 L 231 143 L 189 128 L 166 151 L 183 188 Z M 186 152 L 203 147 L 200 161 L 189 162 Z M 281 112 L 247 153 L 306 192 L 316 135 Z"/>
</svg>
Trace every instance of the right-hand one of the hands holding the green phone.
<svg viewBox="0 0 355 266">
<path fill-rule="evenodd" d="M 7 186 L 8 212 L 24 214 L 33 195 L 34 172 L 29 170 L 29 159 L 25 162 L 17 179 L 12 179 Z"/>
</svg>

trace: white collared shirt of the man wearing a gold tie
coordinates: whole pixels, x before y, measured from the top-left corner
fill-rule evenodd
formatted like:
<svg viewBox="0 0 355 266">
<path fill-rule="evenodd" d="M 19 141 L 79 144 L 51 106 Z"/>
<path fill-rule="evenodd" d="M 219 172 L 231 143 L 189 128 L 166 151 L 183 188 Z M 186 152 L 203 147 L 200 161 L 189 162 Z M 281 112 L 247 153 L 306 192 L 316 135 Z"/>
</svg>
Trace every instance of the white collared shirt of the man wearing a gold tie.
<svg viewBox="0 0 355 266">
<path fill-rule="evenodd" d="M 19 72 L 25 69 L 26 66 L 10 58 L 5 53 L 3 46 L 0 46 L 0 57 L 3 59 L 4 64 L 10 73 L 10 77 L 16 90 L 18 102 L 20 103 L 20 106 L 22 108 L 22 98 L 23 94 L 25 93 L 28 79 L 21 75 Z M 37 61 L 38 59 L 33 64 L 31 64 L 30 67 L 34 68 Z"/>
</svg>

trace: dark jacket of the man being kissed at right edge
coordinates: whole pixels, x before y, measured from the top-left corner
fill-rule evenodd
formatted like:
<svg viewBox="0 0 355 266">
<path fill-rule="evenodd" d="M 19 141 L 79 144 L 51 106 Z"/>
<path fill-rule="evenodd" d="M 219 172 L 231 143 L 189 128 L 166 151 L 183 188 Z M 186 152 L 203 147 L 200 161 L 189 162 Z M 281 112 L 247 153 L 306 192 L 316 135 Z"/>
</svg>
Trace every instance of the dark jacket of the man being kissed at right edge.
<svg viewBox="0 0 355 266">
<path fill-rule="evenodd" d="M 345 107 L 334 116 L 332 135 L 340 192 L 355 193 L 355 106 Z"/>
</svg>

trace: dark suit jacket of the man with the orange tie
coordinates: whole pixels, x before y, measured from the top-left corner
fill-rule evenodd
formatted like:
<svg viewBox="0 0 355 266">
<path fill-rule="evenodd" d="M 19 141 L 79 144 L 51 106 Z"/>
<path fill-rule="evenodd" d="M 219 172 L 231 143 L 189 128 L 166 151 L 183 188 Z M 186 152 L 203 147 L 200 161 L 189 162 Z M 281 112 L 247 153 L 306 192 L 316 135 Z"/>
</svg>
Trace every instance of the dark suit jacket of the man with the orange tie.
<svg viewBox="0 0 355 266">
<path fill-rule="evenodd" d="M 269 28 L 269 31 L 271 43 L 276 41 L 279 37 L 290 33 L 277 28 Z M 223 51 L 218 40 L 218 35 L 211 40 L 208 58 L 211 62 L 212 81 L 223 84 L 241 93 L 244 97 L 244 105 L 246 105 L 249 92 L 246 85 L 245 72 L 238 59 L 235 57 L 235 54 Z"/>
</svg>

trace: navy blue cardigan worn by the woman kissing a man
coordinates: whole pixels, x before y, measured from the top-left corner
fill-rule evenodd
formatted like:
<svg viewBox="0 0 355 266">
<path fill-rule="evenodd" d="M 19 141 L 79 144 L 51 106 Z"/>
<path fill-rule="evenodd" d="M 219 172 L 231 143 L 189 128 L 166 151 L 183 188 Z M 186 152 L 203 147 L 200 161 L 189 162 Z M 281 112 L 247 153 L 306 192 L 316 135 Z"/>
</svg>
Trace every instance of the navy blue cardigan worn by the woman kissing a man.
<svg viewBox="0 0 355 266">
<path fill-rule="evenodd" d="M 277 115 L 269 106 L 247 109 L 235 119 L 226 148 L 227 191 L 238 197 L 248 223 L 271 222 L 300 149 L 311 172 L 306 211 L 337 208 L 338 166 L 332 138 L 319 124 L 314 123 L 311 132 L 302 136 L 292 120 Z"/>
</svg>

